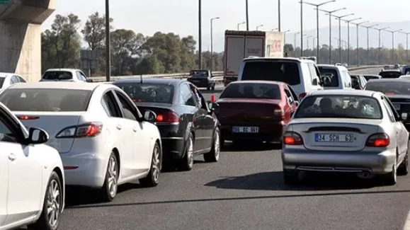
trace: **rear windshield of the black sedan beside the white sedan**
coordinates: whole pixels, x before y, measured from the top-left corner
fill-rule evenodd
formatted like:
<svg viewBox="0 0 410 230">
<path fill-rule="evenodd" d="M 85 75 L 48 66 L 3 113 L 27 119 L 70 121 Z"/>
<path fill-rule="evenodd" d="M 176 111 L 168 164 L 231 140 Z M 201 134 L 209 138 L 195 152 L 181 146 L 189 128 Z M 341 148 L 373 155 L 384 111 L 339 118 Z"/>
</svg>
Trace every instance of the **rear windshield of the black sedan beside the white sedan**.
<svg viewBox="0 0 410 230">
<path fill-rule="evenodd" d="M 139 84 L 139 83 L 115 83 L 134 102 L 166 103 L 173 102 L 173 86 L 168 84 Z"/>
</svg>

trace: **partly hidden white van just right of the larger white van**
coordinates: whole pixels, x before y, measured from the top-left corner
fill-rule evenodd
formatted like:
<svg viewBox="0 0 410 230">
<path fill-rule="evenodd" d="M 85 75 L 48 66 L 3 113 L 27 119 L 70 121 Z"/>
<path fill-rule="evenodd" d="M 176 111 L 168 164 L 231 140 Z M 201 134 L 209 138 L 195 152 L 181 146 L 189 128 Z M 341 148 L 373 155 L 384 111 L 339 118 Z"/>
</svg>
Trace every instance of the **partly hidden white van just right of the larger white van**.
<svg viewBox="0 0 410 230">
<path fill-rule="evenodd" d="M 339 65 L 318 64 L 324 89 L 352 89 L 348 69 Z"/>
</svg>

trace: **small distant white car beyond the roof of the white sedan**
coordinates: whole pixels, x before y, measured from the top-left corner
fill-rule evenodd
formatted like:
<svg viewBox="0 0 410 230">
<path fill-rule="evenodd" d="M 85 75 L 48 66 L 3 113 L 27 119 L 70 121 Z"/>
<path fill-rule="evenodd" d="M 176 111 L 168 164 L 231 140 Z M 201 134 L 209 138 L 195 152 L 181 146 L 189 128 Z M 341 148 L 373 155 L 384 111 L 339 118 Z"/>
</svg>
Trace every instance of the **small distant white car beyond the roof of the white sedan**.
<svg viewBox="0 0 410 230">
<path fill-rule="evenodd" d="M 93 82 L 80 69 L 47 69 L 40 81 Z"/>
</svg>

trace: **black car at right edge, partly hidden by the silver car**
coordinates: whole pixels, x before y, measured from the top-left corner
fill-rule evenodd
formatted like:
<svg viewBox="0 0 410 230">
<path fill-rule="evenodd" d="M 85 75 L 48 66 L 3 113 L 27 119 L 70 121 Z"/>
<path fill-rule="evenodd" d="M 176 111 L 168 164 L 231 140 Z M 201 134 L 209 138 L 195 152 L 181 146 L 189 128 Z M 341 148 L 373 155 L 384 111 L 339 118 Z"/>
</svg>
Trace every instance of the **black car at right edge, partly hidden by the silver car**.
<svg viewBox="0 0 410 230">
<path fill-rule="evenodd" d="M 369 81 L 365 90 L 385 93 L 392 102 L 400 117 L 404 119 L 404 126 L 410 131 L 410 81 L 405 79 L 380 79 Z M 406 118 L 408 117 L 408 118 Z"/>
</svg>

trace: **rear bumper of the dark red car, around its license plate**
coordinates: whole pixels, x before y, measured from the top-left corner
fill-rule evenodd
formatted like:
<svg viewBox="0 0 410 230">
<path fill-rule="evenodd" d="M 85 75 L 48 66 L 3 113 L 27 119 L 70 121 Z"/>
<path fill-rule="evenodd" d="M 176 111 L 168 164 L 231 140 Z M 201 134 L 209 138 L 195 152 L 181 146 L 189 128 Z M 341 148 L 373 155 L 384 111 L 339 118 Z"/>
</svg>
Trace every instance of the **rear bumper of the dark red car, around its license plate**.
<svg viewBox="0 0 410 230">
<path fill-rule="evenodd" d="M 258 133 L 234 133 L 232 132 L 233 126 L 257 126 L 259 127 Z M 225 140 L 261 140 L 266 142 L 281 142 L 284 125 L 278 124 L 241 124 L 241 125 L 221 125 L 221 137 Z"/>
</svg>

